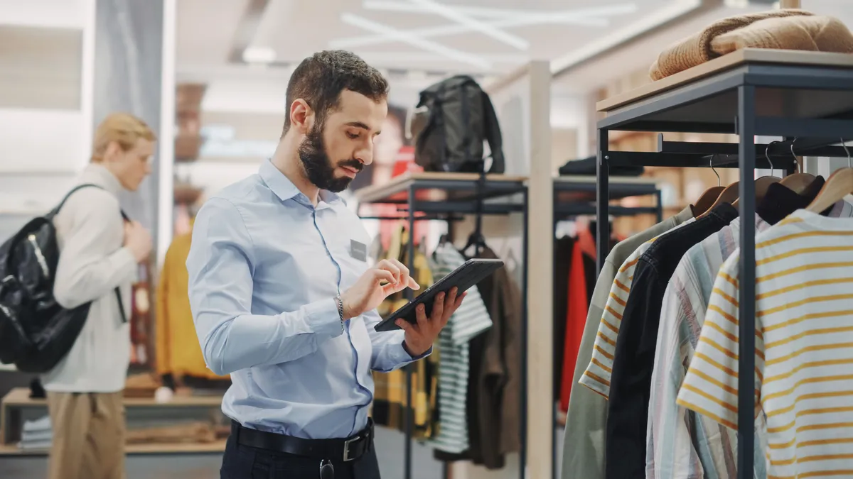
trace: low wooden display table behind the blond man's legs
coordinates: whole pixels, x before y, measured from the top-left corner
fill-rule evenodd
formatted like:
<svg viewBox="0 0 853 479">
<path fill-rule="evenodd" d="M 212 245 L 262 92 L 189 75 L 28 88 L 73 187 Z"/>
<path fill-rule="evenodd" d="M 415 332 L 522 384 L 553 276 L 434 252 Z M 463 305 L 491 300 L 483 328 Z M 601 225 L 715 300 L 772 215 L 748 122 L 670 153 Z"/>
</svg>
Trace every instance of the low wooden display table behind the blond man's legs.
<svg viewBox="0 0 853 479">
<path fill-rule="evenodd" d="M 174 396 L 165 403 L 149 398 L 125 398 L 124 403 L 128 430 L 199 422 L 218 424 L 218 428 L 222 429 L 229 424 L 220 411 L 221 395 Z M 46 449 L 24 450 L 18 446 L 24 422 L 43 418 L 47 414 L 47 401 L 31 399 L 29 389 L 9 391 L 0 402 L 0 456 L 47 454 Z M 125 447 L 128 454 L 223 453 L 224 450 L 224 439 L 204 442 L 157 441 L 133 443 Z"/>
</svg>

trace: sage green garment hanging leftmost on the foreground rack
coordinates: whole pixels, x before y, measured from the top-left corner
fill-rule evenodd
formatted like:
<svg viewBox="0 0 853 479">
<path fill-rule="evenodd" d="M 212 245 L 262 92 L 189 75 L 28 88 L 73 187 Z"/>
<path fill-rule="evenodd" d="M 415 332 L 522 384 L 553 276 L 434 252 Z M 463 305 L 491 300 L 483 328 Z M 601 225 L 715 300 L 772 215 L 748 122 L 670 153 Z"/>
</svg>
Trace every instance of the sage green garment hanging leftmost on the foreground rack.
<svg viewBox="0 0 853 479">
<path fill-rule="evenodd" d="M 572 393 L 566 412 L 566 433 L 563 441 L 563 463 L 560 469 L 562 479 L 602 479 L 604 477 L 604 430 L 607 419 L 607 403 L 599 394 L 595 394 L 580 384 L 583 372 L 592 359 L 596 333 L 602 323 L 606 303 L 610 300 L 610 290 L 617 277 L 618 269 L 648 240 L 676 228 L 693 218 L 690 206 L 659 222 L 646 231 L 635 234 L 613 247 L 607 255 L 601 274 L 595 282 L 595 291 L 589 303 L 589 313 L 583 327 L 583 339 L 577 355 L 572 376 Z M 595 266 L 595 265 L 594 265 Z M 595 271 L 595 268 L 593 268 Z M 595 278 L 595 273 L 593 273 Z M 591 289 L 591 288 L 590 288 Z"/>
</svg>

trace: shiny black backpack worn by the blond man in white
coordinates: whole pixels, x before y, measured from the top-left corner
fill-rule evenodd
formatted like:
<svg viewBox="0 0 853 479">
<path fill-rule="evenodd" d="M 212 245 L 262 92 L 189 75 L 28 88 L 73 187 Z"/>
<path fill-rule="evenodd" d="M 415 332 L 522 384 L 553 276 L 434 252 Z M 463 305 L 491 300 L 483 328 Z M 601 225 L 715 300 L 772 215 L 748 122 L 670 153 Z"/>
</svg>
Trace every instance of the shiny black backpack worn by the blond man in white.
<svg viewBox="0 0 853 479">
<path fill-rule="evenodd" d="M 101 188 L 73 188 L 47 215 L 33 218 L 0 245 L 0 362 L 15 363 L 21 372 L 53 369 L 77 341 L 89 315 L 91 303 L 65 309 L 53 294 L 59 263 L 53 220 L 72 193 L 87 187 Z M 127 322 L 118 287 L 115 296 Z"/>
</svg>

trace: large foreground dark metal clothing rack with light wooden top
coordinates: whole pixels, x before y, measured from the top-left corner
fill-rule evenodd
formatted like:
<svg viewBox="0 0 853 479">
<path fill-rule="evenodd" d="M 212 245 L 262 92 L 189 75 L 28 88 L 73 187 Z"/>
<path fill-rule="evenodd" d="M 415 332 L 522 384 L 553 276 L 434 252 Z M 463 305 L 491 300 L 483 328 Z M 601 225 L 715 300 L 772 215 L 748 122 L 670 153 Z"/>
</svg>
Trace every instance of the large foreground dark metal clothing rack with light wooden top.
<svg viewBox="0 0 853 479">
<path fill-rule="evenodd" d="M 740 217 L 751 218 L 756 207 L 754 170 L 773 164 L 764 157 L 765 151 L 771 157 L 847 157 L 843 148 L 830 145 L 853 136 L 853 55 L 743 49 L 600 101 L 596 109 L 607 114 L 597 124 L 597 265 L 601 271 L 609 234 L 609 166 L 740 167 Z M 658 152 L 610 152 L 612 130 L 736 133 L 740 142 L 660 139 Z M 757 135 L 781 136 L 785 141 L 759 145 Z M 737 161 L 718 155 L 736 155 Z M 740 223 L 740 372 L 755 369 L 755 234 L 754 222 Z M 742 479 L 753 476 L 755 459 L 753 381 L 752 374 L 741 373 L 738 378 L 738 424 L 749 424 L 738 428 L 737 466 Z"/>
</svg>

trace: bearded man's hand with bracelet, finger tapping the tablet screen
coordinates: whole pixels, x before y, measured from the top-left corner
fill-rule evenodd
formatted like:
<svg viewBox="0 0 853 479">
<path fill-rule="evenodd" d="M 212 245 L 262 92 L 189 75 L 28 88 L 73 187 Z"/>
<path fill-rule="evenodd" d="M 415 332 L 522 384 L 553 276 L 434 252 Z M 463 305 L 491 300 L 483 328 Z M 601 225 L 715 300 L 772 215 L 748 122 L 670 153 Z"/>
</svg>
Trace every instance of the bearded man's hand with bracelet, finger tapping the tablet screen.
<svg viewBox="0 0 853 479">
<path fill-rule="evenodd" d="M 384 285 L 383 281 L 386 281 Z M 396 259 L 383 259 L 374 268 L 365 271 L 356 284 L 340 295 L 344 303 L 344 320 L 376 309 L 386 297 L 406 287 L 421 289 L 409 276 L 409 268 L 403 266 L 403 263 Z"/>
</svg>

